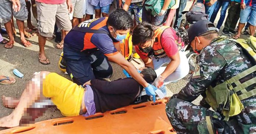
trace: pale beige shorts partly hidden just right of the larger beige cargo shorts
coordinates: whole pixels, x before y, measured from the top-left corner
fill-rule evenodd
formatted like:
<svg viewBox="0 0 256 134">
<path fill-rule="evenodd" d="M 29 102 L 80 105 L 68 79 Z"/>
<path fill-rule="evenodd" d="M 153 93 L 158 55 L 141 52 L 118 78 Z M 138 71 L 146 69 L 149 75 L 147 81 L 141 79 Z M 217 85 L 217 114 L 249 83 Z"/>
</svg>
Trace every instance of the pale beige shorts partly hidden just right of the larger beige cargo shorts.
<svg viewBox="0 0 256 134">
<path fill-rule="evenodd" d="M 74 11 L 69 14 L 70 19 L 75 18 L 83 18 L 83 0 L 71 0 Z"/>
</svg>

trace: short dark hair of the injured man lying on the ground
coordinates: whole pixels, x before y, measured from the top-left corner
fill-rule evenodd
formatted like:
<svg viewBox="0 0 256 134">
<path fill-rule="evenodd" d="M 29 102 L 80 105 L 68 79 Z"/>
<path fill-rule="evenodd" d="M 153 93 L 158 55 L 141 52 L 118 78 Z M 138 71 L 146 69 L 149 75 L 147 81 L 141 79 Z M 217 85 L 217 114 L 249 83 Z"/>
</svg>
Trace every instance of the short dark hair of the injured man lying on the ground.
<svg viewBox="0 0 256 134">
<path fill-rule="evenodd" d="M 148 66 L 146 66 L 146 68 L 144 68 L 141 71 L 141 74 L 143 75 L 144 80 L 146 80 L 147 83 L 152 83 L 154 82 L 154 80 L 156 79 L 156 72 L 154 71 L 153 68 L 150 68 Z"/>
</svg>

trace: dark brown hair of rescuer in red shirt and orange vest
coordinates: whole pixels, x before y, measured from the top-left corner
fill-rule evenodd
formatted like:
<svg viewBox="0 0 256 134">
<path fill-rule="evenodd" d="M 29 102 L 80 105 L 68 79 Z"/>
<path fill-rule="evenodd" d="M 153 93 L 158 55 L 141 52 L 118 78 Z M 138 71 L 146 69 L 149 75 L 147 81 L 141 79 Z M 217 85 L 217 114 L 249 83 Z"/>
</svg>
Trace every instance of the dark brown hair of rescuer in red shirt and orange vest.
<svg viewBox="0 0 256 134">
<path fill-rule="evenodd" d="M 147 22 L 137 25 L 132 32 L 132 44 L 139 46 L 145 44 L 154 37 L 154 30 L 156 27 Z"/>
</svg>

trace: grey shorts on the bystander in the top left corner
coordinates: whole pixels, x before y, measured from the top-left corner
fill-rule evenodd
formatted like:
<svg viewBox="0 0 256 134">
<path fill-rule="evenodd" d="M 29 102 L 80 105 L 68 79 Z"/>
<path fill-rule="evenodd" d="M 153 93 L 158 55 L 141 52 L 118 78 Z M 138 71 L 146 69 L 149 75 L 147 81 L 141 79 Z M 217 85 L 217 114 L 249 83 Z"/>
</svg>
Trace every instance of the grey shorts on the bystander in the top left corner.
<svg viewBox="0 0 256 134">
<path fill-rule="evenodd" d="M 28 10 L 26 8 L 25 0 L 19 0 L 21 3 L 21 10 L 13 11 L 13 3 L 9 0 L 0 0 L 0 23 L 7 23 L 11 20 L 13 14 L 14 18 L 25 21 L 28 19 Z"/>
</svg>

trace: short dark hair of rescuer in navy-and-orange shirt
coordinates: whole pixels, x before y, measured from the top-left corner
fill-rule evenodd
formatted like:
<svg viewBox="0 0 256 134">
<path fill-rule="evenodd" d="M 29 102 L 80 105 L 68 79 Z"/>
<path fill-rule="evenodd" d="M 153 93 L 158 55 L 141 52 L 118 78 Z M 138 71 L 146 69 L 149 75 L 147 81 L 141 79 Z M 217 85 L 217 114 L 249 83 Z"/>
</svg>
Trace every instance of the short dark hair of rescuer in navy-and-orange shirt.
<svg viewBox="0 0 256 134">
<path fill-rule="evenodd" d="M 115 30 L 127 30 L 134 27 L 134 22 L 127 11 L 115 9 L 109 14 L 107 25 L 113 26 Z"/>
</svg>

